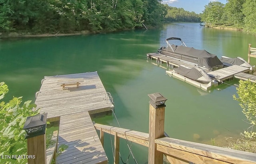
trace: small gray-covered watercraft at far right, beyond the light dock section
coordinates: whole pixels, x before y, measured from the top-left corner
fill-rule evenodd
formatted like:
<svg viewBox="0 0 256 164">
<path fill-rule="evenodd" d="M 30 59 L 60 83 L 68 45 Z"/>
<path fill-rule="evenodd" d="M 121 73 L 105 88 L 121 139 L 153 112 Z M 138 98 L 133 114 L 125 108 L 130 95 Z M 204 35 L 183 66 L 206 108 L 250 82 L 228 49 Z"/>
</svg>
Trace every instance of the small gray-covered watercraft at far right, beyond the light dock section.
<svg viewBox="0 0 256 164">
<path fill-rule="evenodd" d="M 252 66 L 248 62 L 246 62 L 242 57 L 230 58 L 230 57 L 222 56 L 220 61 L 226 66 L 239 65 L 243 67 L 248 67 L 252 70 Z"/>
</svg>

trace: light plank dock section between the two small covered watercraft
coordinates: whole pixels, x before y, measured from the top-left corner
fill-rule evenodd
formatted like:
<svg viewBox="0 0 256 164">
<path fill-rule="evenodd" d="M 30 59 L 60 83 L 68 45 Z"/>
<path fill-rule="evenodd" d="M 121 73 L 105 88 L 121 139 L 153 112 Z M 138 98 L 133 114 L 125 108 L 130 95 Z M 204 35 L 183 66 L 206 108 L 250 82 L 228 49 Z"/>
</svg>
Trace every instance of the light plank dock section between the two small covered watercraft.
<svg viewBox="0 0 256 164">
<path fill-rule="evenodd" d="M 250 71 L 250 68 L 242 67 L 239 65 L 232 65 L 230 67 L 225 67 L 222 69 L 218 69 L 216 71 L 208 72 L 208 75 L 210 77 L 216 79 L 217 81 L 221 82 L 226 79 L 233 78 L 234 75 L 237 73 L 240 73 L 240 72 L 244 73 L 244 72 L 248 72 L 248 71 Z"/>
</svg>

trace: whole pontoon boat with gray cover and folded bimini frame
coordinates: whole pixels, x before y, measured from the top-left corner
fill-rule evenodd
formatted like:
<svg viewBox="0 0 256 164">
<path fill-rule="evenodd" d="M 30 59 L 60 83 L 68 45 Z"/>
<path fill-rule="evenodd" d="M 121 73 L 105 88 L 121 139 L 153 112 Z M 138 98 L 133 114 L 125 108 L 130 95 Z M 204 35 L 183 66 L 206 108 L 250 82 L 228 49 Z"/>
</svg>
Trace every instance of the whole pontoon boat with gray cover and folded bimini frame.
<svg viewBox="0 0 256 164">
<path fill-rule="evenodd" d="M 180 40 L 181 45 L 170 45 L 168 41 Z M 167 46 L 161 47 L 159 53 L 169 56 L 186 63 L 191 63 L 199 67 L 206 67 L 211 69 L 219 69 L 223 67 L 222 62 L 218 57 L 206 50 L 195 49 L 193 47 L 187 47 L 186 44 L 180 38 L 168 38 L 166 39 Z"/>
</svg>

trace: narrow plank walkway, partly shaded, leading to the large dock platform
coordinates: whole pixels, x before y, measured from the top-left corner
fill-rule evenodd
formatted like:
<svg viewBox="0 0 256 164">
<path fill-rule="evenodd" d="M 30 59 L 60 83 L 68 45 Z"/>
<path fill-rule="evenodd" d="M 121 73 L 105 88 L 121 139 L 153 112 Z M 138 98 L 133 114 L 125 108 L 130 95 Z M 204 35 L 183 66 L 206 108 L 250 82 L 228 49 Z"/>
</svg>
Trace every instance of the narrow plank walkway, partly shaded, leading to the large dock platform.
<svg viewBox="0 0 256 164">
<path fill-rule="evenodd" d="M 57 157 L 58 164 L 94 163 L 95 160 L 98 163 L 108 159 L 87 111 L 60 117 L 58 142 L 68 145 L 67 151 Z"/>
</svg>

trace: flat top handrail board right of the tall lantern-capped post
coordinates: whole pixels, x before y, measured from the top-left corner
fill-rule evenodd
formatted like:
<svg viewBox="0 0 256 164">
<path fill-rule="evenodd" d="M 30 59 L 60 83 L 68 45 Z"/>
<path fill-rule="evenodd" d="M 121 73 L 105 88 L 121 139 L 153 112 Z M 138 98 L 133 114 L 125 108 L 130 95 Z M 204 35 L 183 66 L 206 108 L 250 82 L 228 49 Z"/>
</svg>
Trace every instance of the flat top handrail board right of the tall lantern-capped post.
<svg viewBox="0 0 256 164">
<path fill-rule="evenodd" d="M 156 139 L 155 143 L 232 164 L 256 164 L 255 153 L 232 150 L 168 137 Z"/>
</svg>

